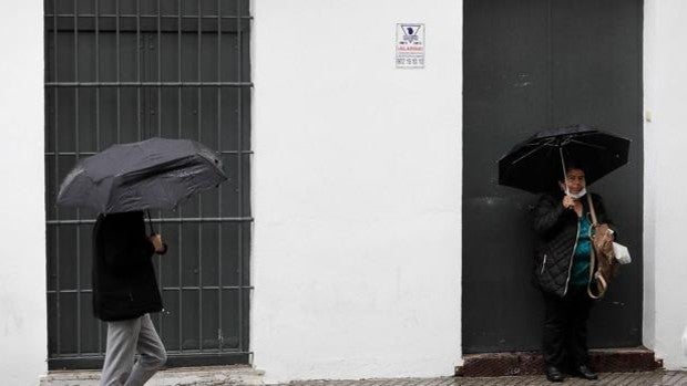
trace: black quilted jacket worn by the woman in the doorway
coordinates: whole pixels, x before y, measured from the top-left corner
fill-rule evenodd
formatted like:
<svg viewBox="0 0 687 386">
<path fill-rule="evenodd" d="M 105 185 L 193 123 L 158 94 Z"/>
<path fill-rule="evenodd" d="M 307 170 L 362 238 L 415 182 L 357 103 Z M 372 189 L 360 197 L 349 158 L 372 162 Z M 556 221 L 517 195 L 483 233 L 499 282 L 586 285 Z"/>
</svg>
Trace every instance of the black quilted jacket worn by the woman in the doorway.
<svg viewBox="0 0 687 386">
<path fill-rule="evenodd" d="M 573 263 L 573 251 L 577 241 L 577 215 L 562 205 L 563 192 L 543 195 L 534 209 L 534 282 L 544 292 L 563 298 Z M 611 223 L 606 208 L 598 195 L 592 194 L 594 209 L 599 223 Z M 587 198 L 582 197 L 584 216 L 589 215 Z"/>
</svg>

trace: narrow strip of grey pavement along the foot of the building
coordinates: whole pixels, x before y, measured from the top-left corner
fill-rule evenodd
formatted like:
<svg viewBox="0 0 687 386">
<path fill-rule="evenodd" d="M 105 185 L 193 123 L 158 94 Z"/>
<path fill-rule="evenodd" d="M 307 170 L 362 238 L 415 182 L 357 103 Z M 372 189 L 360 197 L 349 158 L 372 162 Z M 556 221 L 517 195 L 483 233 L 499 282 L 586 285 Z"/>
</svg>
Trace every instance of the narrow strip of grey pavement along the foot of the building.
<svg viewBox="0 0 687 386">
<path fill-rule="evenodd" d="M 41 379 L 41 386 L 95 386 L 98 372 L 52 372 Z M 256 386 L 265 385 L 262 374 L 248 366 L 173 368 L 161 372 L 147 386 Z M 687 386 L 687 372 L 656 371 L 652 373 L 602 373 L 598 380 L 567 377 L 561 384 L 546 380 L 543 375 L 491 378 L 389 378 L 360 380 L 303 380 L 273 386 Z"/>
</svg>

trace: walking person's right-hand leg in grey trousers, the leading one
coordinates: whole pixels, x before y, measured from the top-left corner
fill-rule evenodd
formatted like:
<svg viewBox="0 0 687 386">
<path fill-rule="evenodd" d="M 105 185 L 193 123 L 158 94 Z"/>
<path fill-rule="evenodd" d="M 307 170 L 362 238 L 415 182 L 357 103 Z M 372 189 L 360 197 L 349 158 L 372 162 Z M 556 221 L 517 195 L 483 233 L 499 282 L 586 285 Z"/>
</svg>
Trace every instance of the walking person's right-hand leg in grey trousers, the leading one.
<svg viewBox="0 0 687 386">
<path fill-rule="evenodd" d="M 136 346 L 139 361 L 134 365 L 125 386 L 142 386 L 167 362 L 167 353 L 162 344 L 151 315 L 141 316 L 141 331 Z"/>
</svg>

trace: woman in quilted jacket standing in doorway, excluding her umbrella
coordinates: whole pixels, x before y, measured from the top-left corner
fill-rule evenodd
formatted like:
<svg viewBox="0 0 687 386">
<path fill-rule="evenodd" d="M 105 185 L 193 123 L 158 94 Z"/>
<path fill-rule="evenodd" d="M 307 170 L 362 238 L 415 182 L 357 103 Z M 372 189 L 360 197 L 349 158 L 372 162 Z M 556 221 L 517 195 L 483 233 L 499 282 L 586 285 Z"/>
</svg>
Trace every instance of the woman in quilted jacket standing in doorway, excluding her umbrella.
<svg viewBox="0 0 687 386">
<path fill-rule="evenodd" d="M 587 319 L 593 300 L 592 221 L 585 173 L 568 164 L 561 191 L 542 195 L 534 209 L 535 280 L 544 298 L 543 354 L 546 378 L 563 380 L 563 369 L 596 379 L 589 368 Z M 602 198 L 592 195 L 599 221 L 609 222 Z"/>
</svg>

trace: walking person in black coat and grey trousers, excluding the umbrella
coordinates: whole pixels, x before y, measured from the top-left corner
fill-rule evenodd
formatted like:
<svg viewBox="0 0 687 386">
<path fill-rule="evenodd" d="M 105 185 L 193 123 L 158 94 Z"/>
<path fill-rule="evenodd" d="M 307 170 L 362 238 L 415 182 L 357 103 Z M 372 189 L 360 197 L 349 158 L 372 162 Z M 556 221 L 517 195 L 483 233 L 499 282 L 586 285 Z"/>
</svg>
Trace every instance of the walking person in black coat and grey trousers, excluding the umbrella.
<svg viewBox="0 0 687 386">
<path fill-rule="evenodd" d="M 143 385 L 167 361 L 150 316 L 162 311 L 152 257 L 166 250 L 160 234 L 146 236 L 143 211 L 101 213 L 95 221 L 93 311 L 107 323 L 101 386 Z"/>
</svg>

